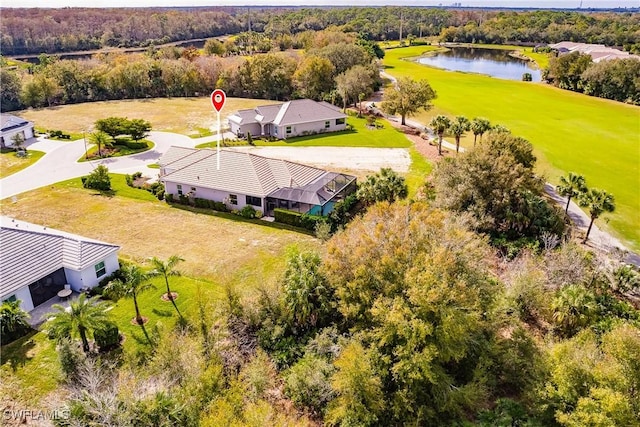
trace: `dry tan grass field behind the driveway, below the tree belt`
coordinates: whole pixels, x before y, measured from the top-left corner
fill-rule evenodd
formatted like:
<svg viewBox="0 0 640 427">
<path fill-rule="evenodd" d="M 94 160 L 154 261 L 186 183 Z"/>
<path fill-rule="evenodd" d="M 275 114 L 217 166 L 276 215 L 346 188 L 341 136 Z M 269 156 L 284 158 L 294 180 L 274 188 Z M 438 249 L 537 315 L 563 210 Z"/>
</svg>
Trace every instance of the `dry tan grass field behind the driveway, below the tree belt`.
<svg viewBox="0 0 640 427">
<path fill-rule="evenodd" d="M 269 104 L 264 99 L 227 98 L 222 117 L 235 110 Z M 63 105 L 16 112 L 20 117 L 37 123 L 43 129 L 62 129 L 66 133 L 80 134 L 91 129 L 98 119 L 117 116 L 144 119 L 153 130 L 176 132 L 199 137 L 216 126 L 216 113 L 209 97 L 154 98 L 125 101 L 101 101 Z"/>
</svg>

